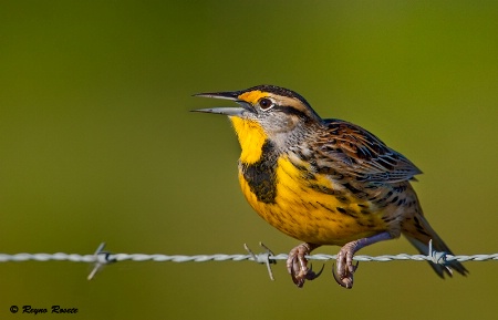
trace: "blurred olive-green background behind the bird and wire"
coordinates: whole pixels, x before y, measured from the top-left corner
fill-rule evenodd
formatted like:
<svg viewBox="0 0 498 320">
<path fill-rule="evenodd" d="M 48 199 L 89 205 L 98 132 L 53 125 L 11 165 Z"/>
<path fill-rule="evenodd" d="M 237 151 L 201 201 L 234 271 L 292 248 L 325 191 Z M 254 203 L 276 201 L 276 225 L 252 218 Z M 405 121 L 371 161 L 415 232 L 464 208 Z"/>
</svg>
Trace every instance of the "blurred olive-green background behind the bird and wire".
<svg viewBox="0 0 498 320">
<path fill-rule="evenodd" d="M 425 213 L 456 254 L 498 251 L 498 2 L 3 1 L 0 252 L 238 254 L 298 244 L 246 204 L 229 105 L 191 97 L 270 83 L 357 123 L 425 175 Z M 335 254 L 336 247 L 318 252 Z M 405 239 L 365 255 L 414 254 Z M 353 290 L 299 290 L 282 262 L 0 264 L 11 304 L 61 319 L 495 319 L 496 262 L 438 279 L 362 264 Z M 53 316 L 39 316 L 53 317 Z"/>
</svg>

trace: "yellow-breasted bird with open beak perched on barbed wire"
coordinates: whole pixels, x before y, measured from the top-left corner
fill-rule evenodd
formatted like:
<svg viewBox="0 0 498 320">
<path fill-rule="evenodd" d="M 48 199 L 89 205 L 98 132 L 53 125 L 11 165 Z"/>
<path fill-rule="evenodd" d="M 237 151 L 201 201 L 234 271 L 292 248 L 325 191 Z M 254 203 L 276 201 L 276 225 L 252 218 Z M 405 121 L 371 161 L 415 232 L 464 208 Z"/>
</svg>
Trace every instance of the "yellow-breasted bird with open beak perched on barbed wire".
<svg viewBox="0 0 498 320">
<path fill-rule="evenodd" d="M 287 259 L 298 287 L 320 276 L 305 258 L 320 246 L 341 247 L 332 270 L 346 289 L 357 268 L 354 254 L 380 241 L 404 235 L 423 255 L 429 241 L 453 255 L 412 186 L 422 172 L 365 128 L 322 118 L 299 93 L 276 85 L 194 96 L 238 104 L 194 112 L 229 117 L 241 148 L 238 177 L 247 202 L 271 226 L 302 241 Z M 429 265 L 442 278 L 453 270 L 468 273 L 456 260 Z"/>
</svg>

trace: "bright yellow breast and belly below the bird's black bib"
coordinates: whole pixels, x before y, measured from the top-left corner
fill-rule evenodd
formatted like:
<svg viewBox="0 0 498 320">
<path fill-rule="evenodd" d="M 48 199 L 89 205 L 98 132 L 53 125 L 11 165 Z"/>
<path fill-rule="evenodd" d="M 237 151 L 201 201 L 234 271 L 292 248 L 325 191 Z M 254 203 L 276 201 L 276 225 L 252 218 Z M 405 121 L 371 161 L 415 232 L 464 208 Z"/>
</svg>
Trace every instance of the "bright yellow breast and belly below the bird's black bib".
<svg viewBox="0 0 498 320">
<path fill-rule="evenodd" d="M 302 241 L 344 245 L 387 228 L 382 211 L 372 204 L 360 202 L 324 175 L 311 178 L 286 156 L 277 162 L 272 203 L 258 197 L 242 172 L 239 180 L 247 200 L 264 220 Z"/>
</svg>

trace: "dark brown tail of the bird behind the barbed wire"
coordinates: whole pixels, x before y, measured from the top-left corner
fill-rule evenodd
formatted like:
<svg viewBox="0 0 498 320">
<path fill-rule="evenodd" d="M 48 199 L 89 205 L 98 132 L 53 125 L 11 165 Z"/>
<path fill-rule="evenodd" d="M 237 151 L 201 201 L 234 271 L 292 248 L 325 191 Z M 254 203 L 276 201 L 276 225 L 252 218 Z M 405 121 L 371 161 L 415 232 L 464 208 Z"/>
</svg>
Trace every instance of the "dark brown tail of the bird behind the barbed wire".
<svg viewBox="0 0 498 320">
<path fill-rule="evenodd" d="M 411 220 L 412 221 L 412 220 Z M 403 235 L 408 239 L 408 241 L 417 248 L 418 252 L 422 255 L 428 255 L 429 240 L 433 240 L 433 250 L 443 251 L 449 255 L 454 254 L 446 246 L 443 239 L 436 234 L 436 231 L 430 227 L 428 221 L 422 215 L 415 215 L 413 217 L 413 224 L 409 226 L 403 226 Z M 436 273 L 444 278 L 445 273 L 449 277 L 453 276 L 453 270 L 456 270 L 461 276 L 467 276 L 468 270 L 459 261 L 450 261 L 447 265 L 437 265 L 429 261 L 430 267 L 436 271 Z"/>
</svg>

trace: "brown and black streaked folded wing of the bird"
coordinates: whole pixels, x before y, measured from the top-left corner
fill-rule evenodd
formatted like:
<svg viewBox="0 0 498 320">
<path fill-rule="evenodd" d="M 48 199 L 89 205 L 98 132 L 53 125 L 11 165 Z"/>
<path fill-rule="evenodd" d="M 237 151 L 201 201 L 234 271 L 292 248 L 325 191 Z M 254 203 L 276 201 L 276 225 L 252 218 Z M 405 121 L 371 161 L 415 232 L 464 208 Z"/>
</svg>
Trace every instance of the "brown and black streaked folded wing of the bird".
<svg viewBox="0 0 498 320">
<path fill-rule="evenodd" d="M 395 183 L 422 173 L 361 126 L 341 120 L 324 120 L 324 125 L 326 130 L 319 136 L 318 147 L 341 174 L 365 182 Z"/>
</svg>

